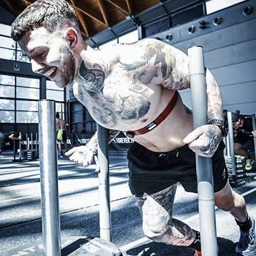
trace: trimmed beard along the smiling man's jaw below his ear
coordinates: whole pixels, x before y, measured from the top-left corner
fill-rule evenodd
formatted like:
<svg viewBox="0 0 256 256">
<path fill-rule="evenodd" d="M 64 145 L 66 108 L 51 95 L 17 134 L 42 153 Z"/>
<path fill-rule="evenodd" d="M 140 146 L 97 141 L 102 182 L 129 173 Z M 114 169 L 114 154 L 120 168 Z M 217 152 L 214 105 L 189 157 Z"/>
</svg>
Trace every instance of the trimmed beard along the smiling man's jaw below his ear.
<svg viewBox="0 0 256 256">
<path fill-rule="evenodd" d="M 64 88 L 72 81 L 75 77 L 75 58 L 70 52 L 68 47 L 62 47 L 60 50 L 62 53 L 62 58 L 60 59 L 60 79 L 55 81 L 56 85 L 60 88 Z"/>
</svg>

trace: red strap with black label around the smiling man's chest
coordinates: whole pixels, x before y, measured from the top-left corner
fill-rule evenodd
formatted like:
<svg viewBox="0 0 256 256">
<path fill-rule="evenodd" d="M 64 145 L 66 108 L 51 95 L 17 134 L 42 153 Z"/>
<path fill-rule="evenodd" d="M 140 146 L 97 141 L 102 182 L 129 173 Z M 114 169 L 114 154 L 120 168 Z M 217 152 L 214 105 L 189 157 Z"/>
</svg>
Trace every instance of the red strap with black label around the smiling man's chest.
<svg viewBox="0 0 256 256">
<path fill-rule="evenodd" d="M 173 110 L 173 108 L 177 102 L 177 98 L 178 98 L 178 92 L 175 91 L 175 94 L 169 101 L 166 108 L 163 110 L 163 112 L 161 112 L 161 114 L 158 117 L 156 117 L 156 119 L 154 119 L 154 121 L 152 121 L 150 124 L 146 125 L 145 127 L 141 128 L 139 130 L 126 131 L 125 135 L 129 138 L 133 138 L 133 137 L 135 137 L 135 135 L 142 135 L 144 133 L 148 133 L 149 131 L 152 131 L 153 129 L 155 129 L 171 113 L 171 111 Z"/>
</svg>

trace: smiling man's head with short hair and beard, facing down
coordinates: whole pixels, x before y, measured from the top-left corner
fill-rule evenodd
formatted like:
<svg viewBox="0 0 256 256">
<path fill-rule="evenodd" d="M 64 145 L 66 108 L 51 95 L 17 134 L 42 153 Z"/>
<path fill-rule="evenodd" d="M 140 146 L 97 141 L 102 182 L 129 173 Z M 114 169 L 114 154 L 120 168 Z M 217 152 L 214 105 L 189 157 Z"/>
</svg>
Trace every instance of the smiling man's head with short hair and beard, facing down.
<svg viewBox="0 0 256 256">
<path fill-rule="evenodd" d="M 14 20 L 11 37 L 30 58 L 33 72 L 49 77 L 59 87 L 74 80 L 81 33 L 66 1 L 35 1 Z"/>
</svg>

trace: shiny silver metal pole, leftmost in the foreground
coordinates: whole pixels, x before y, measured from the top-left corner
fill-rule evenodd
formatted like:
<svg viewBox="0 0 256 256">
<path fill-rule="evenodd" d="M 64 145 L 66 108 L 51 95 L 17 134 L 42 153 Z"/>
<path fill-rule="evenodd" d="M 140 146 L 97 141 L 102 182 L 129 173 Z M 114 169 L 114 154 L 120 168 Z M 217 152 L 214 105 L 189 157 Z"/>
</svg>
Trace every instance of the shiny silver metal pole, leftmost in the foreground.
<svg viewBox="0 0 256 256">
<path fill-rule="evenodd" d="M 39 100 L 39 152 L 44 255 L 60 256 L 55 102 Z"/>
</svg>

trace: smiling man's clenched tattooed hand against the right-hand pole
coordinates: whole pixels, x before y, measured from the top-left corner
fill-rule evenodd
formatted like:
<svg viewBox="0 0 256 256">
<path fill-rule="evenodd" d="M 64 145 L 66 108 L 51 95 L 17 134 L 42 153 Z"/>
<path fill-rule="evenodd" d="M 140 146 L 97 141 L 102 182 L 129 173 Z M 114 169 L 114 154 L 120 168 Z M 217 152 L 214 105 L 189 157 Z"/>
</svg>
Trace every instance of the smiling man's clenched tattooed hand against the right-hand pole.
<svg viewBox="0 0 256 256">
<path fill-rule="evenodd" d="M 203 125 L 189 133 L 183 142 L 199 156 L 211 158 L 221 142 L 221 129 L 217 125 Z"/>
</svg>

